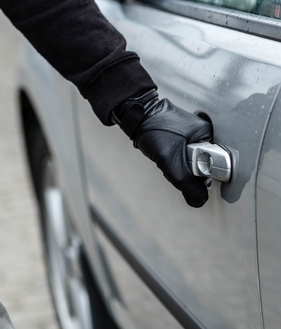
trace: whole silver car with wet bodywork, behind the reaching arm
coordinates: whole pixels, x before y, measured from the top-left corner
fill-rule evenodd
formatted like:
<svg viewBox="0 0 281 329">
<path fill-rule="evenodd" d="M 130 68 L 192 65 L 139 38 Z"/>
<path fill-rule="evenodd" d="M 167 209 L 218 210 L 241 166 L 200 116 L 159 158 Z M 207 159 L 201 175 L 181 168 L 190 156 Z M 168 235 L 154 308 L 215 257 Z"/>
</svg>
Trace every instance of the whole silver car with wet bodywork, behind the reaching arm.
<svg viewBox="0 0 281 329">
<path fill-rule="evenodd" d="M 26 42 L 19 115 L 62 329 L 281 328 L 280 1 L 97 3 L 236 166 L 189 207 Z"/>
</svg>

